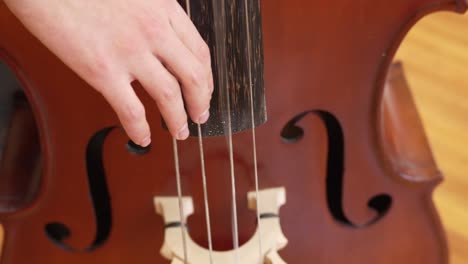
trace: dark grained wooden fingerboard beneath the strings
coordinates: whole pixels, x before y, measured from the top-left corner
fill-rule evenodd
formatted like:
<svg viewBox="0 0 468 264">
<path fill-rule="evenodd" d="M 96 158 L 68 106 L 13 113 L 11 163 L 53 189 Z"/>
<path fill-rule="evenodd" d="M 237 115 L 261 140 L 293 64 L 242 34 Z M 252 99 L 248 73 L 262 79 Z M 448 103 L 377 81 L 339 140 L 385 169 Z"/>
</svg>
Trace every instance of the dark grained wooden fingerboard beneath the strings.
<svg viewBox="0 0 468 264">
<path fill-rule="evenodd" d="M 179 0 L 179 3 L 186 9 L 186 0 Z M 211 116 L 202 126 L 205 137 L 223 135 L 227 131 L 228 104 L 226 97 L 223 96 L 224 91 L 228 91 L 230 98 L 232 132 L 251 129 L 249 68 L 252 72 L 255 125 L 261 125 L 267 119 L 260 2 L 249 0 L 247 12 L 244 0 L 225 1 L 224 12 L 221 10 L 223 6 L 221 3 L 216 2 L 213 5 L 212 0 L 190 2 L 191 19 L 211 50 L 215 85 L 211 100 Z M 223 52 L 220 52 L 221 50 Z M 223 76 L 226 81 L 222 81 Z M 189 127 L 191 135 L 197 136 L 197 126 L 190 122 Z"/>
</svg>

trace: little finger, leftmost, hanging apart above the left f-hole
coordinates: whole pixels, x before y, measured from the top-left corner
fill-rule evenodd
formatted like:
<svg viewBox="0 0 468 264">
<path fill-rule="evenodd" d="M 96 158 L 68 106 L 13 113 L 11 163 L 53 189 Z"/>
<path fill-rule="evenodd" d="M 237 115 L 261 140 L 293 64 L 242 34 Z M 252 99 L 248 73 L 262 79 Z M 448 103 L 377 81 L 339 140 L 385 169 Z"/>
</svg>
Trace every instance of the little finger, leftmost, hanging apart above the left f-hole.
<svg viewBox="0 0 468 264">
<path fill-rule="evenodd" d="M 147 147 L 151 133 L 146 120 L 145 108 L 129 82 L 109 83 L 101 89 L 102 95 L 116 112 L 125 132 L 136 144 Z"/>
</svg>

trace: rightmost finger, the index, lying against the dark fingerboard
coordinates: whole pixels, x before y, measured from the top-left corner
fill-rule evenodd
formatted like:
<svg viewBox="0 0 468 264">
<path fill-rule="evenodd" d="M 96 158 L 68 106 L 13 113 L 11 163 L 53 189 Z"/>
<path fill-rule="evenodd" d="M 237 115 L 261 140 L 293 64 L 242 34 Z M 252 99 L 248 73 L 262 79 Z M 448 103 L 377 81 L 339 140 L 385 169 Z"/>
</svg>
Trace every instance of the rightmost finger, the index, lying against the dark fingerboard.
<svg viewBox="0 0 468 264">
<path fill-rule="evenodd" d="M 208 85 L 210 91 L 213 92 L 213 71 L 211 68 L 211 53 L 210 48 L 202 38 L 198 29 L 195 27 L 190 16 L 182 8 L 178 2 L 174 2 L 173 14 L 170 16 L 170 21 L 173 30 L 181 39 L 182 43 L 198 58 L 198 60 L 208 67 Z"/>
</svg>

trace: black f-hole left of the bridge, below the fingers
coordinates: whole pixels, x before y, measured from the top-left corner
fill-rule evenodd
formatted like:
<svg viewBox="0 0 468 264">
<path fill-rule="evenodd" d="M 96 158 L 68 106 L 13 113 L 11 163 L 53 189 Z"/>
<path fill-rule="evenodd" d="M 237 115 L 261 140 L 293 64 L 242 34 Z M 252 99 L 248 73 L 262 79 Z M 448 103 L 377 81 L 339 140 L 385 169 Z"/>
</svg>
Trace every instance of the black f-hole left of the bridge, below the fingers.
<svg viewBox="0 0 468 264">
<path fill-rule="evenodd" d="M 111 232 L 112 211 L 103 164 L 103 145 L 112 130 L 113 128 L 105 128 L 97 132 L 89 141 L 86 149 L 86 168 L 96 220 L 96 235 L 91 245 L 84 250 L 85 252 L 93 251 L 104 244 Z M 72 231 L 67 225 L 60 222 L 50 222 L 45 225 L 45 232 L 49 239 L 61 248 L 79 251 L 65 242 L 72 235 Z"/>
</svg>

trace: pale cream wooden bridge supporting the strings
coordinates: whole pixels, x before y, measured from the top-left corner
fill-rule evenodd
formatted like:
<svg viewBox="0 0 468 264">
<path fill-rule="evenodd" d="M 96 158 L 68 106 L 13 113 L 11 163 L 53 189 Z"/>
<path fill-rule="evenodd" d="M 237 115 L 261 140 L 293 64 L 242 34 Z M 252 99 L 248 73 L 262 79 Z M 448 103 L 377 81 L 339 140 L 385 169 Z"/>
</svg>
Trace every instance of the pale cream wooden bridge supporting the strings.
<svg viewBox="0 0 468 264">
<path fill-rule="evenodd" d="M 259 210 L 262 229 L 255 232 L 253 237 L 244 245 L 238 248 L 239 263 L 258 263 L 258 237 L 261 236 L 263 243 L 263 263 L 264 264 L 286 264 L 278 254 L 278 251 L 285 248 L 288 240 L 284 236 L 280 224 L 280 207 L 286 203 L 286 191 L 284 188 L 265 189 L 259 192 L 262 200 L 260 208 L 256 208 L 257 196 L 255 192 L 248 193 L 248 207 L 251 210 Z M 155 197 L 154 205 L 156 212 L 164 218 L 165 239 L 160 250 L 162 256 L 172 261 L 172 264 L 184 263 L 183 242 L 181 232 L 186 232 L 187 251 L 190 258 L 189 264 L 205 264 L 210 262 L 208 249 L 196 244 L 183 229 L 182 222 L 194 213 L 193 200 L 191 197 L 183 197 L 184 221 L 180 219 L 180 212 L 177 197 Z M 232 264 L 231 251 L 214 251 L 213 260 L 216 264 Z"/>
</svg>

